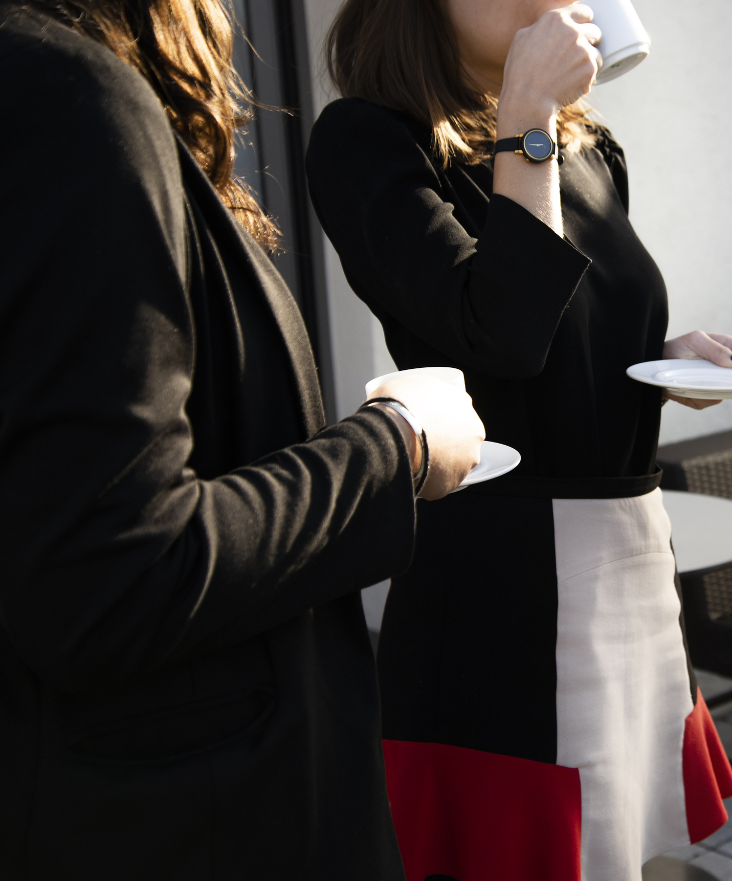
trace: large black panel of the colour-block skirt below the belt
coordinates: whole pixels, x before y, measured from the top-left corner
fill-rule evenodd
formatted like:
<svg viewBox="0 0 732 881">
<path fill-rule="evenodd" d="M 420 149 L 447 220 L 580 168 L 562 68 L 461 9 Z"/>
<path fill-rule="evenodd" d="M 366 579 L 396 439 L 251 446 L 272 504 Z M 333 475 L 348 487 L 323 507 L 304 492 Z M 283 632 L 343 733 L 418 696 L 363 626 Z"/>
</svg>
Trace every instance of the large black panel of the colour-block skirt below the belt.
<svg viewBox="0 0 732 881">
<path fill-rule="evenodd" d="M 384 738 L 555 762 L 551 500 L 463 491 L 417 509 L 414 563 L 392 580 L 379 638 Z"/>
</svg>

